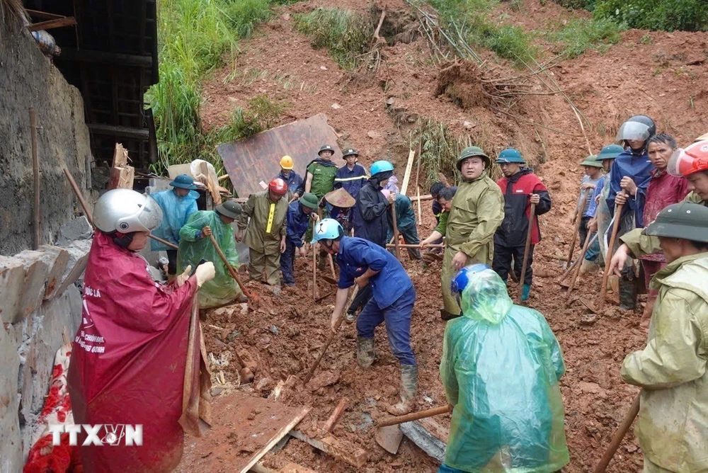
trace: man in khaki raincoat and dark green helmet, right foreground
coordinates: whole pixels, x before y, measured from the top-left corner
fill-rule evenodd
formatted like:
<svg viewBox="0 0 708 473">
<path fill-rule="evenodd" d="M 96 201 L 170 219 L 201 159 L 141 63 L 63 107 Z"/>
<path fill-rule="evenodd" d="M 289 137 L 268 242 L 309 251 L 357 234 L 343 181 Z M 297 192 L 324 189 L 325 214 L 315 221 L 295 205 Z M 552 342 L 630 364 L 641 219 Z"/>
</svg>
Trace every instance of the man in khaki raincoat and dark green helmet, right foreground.
<svg viewBox="0 0 708 473">
<path fill-rule="evenodd" d="M 708 155 L 708 142 L 704 142 Z M 688 151 L 688 150 L 687 150 Z M 704 161 L 708 165 L 708 161 Z M 708 471 L 708 208 L 669 205 L 644 230 L 658 239 L 666 266 L 651 280 L 658 290 L 644 350 L 629 353 L 622 380 L 642 387 L 636 436 L 644 472 Z M 637 241 L 624 239 L 610 270 L 619 274 Z"/>
</svg>

